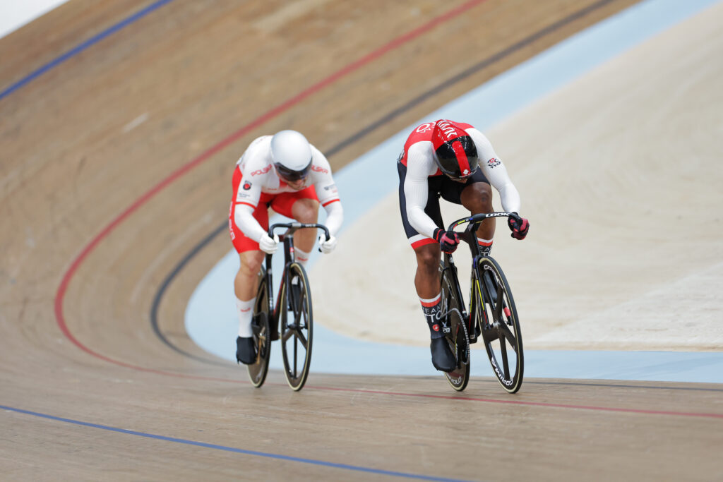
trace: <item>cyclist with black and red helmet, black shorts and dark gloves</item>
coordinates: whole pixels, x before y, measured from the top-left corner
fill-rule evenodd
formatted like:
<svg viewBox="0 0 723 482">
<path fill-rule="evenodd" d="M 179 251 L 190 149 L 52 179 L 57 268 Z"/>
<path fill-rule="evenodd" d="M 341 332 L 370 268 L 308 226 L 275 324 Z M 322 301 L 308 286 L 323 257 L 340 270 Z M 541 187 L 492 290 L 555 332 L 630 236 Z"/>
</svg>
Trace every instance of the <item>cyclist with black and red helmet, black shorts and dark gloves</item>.
<svg viewBox="0 0 723 482">
<path fill-rule="evenodd" d="M 459 238 L 445 231 L 439 199 L 463 205 L 474 215 L 493 211 L 490 184 L 499 191 L 507 212 L 519 212 L 520 195 L 487 137 L 463 122 L 442 119 L 416 126 L 397 169 L 402 224 L 416 254 L 414 285 L 432 337 L 432 364 L 449 372 L 455 369 L 455 357 L 444 338 L 450 327 L 441 299 L 440 250 L 455 251 Z M 508 218 L 508 225 L 513 238 L 527 235 L 525 218 L 519 223 Z M 482 253 L 488 254 L 495 235 L 494 218 L 484 220 L 476 235 Z"/>
</svg>

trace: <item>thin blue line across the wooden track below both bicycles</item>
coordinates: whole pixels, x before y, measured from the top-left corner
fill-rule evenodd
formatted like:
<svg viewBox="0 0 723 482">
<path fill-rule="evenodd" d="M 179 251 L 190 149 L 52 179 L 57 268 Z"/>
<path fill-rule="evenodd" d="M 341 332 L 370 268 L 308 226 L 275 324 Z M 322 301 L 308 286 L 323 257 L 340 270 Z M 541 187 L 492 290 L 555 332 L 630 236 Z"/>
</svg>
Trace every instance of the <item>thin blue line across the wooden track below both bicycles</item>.
<svg viewBox="0 0 723 482">
<path fill-rule="evenodd" d="M 347 464 L 340 464 L 340 463 L 335 463 L 335 462 L 325 462 L 324 460 L 303 459 L 300 457 L 290 457 L 288 455 L 270 454 L 270 453 L 266 453 L 266 452 L 257 452 L 255 450 L 244 450 L 244 449 L 238 449 L 236 447 L 226 447 L 225 445 L 206 444 L 205 442 L 195 442 L 193 440 L 177 439 L 176 437 L 172 437 L 172 436 L 146 434 L 145 432 L 140 432 L 140 431 L 135 431 L 135 430 L 118 429 L 116 427 L 100 425 L 98 423 L 82 422 L 82 421 L 78 421 L 78 420 L 72 420 L 71 418 L 62 418 L 62 417 L 56 417 L 56 416 L 52 416 L 52 415 L 46 415 L 45 413 L 31 412 L 30 410 L 22 410 L 21 408 L 7 407 L 6 405 L 0 405 L 0 409 L 9 410 L 9 411 L 15 412 L 15 413 L 22 413 L 25 415 L 32 415 L 32 416 L 40 417 L 40 418 L 47 418 L 48 420 L 54 420 L 54 421 L 59 421 L 59 422 L 64 422 L 64 423 L 72 423 L 74 425 L 90 427 L 92 429 L 102 429 L 102 430 L 114 431 L 114 432 L 119 432 L 121 434 L 142 436 L 142 437 L 146 437 L 148 439 L 163 440 L 166 442 L 174 442 L 176 444 L 193 445 L 195 447 L 204 447 L 206 449 L 223 450 L 225 452 L 234 452 L 237 454 L 254 455 L 255 457 L 266 457 L 266 458 L 270 458 L 270 459 L 286 460 L 288 462 L 300 462 L 300 463 L 311 464 L 311 465 L 321 465 L 322 467 L 339 468 L 339 469 L 343 469 L 343 470 L 355 470 L 356 472 L 375 473 L 375 474 L 379 474 L 379 475 L 390 475 L 392 477 L 413 478 L 413 479 L 418 479 L 418 480 L 422 480 L 422 481 L 465 482 L 465 481 L 463 481 L 463 479 L 457 479 L 457 478 L 433 477 L 431 475 L 419 475 L 419 474 L 414 474 L 414 473 L 395 472 L 393 470 L 381 470 L 381 469 L 375 469 L 375 468 L 369 468 L 369 467 L 361 467 L 359 465 L 347 465 Z"/>
</svg>

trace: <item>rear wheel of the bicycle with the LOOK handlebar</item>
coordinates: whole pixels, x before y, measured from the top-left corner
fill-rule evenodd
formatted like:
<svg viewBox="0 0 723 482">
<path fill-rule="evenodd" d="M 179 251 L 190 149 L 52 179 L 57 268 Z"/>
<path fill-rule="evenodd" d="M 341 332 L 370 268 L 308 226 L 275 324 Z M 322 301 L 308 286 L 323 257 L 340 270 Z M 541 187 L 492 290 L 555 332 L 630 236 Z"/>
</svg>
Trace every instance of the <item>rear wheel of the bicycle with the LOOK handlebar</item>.
<svg viewBox="0 0 723 482">
<path fill-rule="evenodd" d="M 454 390 L 461 392 L 469 382 L 469 333 L 462 318 L 462 301 L 458 297 L 457 285 L 450 274 L 451 269 L 453 268 L 445 267 L 444 262 L 440 264 L 442 306 L 450 323 L 450 332 L 445 335 L 445 338 L 457 359 L 457 367 L 453 371 L 445 373 L 445 378 Z"/>
</svg>

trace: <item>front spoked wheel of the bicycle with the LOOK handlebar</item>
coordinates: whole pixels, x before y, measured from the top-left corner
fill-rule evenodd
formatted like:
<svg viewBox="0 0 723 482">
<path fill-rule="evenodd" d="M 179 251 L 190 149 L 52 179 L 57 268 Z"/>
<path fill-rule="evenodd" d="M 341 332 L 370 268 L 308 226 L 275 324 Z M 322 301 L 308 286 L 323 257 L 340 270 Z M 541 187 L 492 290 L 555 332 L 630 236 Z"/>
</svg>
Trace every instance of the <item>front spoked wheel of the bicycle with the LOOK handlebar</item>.
<svg viewBox="0 0 723 482">
<path fill-rule="evenodd" d="M 490 258 L 476 267 L 475 314 L 497 380 L 507 392 L 520 390 L 524 371 L 522 335 L 515 301 L 500 264 Z"/>
</svg>

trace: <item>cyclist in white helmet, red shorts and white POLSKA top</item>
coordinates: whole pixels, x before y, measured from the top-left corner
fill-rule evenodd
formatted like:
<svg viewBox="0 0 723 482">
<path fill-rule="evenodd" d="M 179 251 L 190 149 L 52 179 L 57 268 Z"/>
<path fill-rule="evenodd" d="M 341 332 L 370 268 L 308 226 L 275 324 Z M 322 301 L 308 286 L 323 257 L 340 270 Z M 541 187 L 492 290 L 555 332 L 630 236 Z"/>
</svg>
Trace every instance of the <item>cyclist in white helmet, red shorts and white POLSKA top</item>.
<svg viewBox="0 0 723 482">
<path fill-rule="evenodd" d="M 236 359 L 254 363 L 256 353 L 251 318 L 256 301 L 257 275 L 265 253 L 273 254 L 278 238 L 268 236 L 268 208 L 301 223 L 316 223 L 319 205 L 327 211 L 331 238 L 319 236 L 320 250 L 328 254 L 336 246 L 343 210 L 325 156 L 306 137 L 286 130 L 254 139 L 234 169 L 234 197 L 228 213 L 228 231 L 239 253 L 239 272 L 234 280 L 239 336 Z M 304 264 L 315 244 L 316 229 L 294 233 L 294 257 Z M 293 281 L 292 281 L 293 283 Z M 272 339 L 278 337 L 272 327 Z"/>
</svg>

